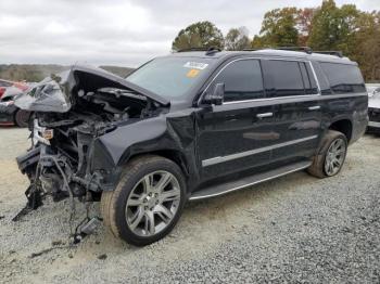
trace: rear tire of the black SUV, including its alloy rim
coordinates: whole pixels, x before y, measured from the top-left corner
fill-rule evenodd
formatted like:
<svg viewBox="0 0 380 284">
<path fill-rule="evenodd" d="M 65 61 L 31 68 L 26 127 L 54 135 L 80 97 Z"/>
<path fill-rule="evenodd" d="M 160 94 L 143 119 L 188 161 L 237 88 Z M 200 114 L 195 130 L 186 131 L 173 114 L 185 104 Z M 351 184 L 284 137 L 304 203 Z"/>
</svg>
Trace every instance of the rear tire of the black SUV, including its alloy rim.
<svg viewBox="0 0 380 284">
<path fill-rule="evenodd" d="M 328 130 L 307 172 L 320 179 L 333 177 L 341 171 L 346 153 L 346 137 L 339 131 Z"/>
</svg>

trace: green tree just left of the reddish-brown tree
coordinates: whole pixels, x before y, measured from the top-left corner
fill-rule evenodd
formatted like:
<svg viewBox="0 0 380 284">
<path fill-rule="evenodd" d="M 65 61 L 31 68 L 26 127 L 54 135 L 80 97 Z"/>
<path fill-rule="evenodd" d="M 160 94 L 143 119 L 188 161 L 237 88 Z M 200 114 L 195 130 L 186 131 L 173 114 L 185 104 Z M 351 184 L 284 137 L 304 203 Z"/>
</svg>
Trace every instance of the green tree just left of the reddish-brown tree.
<svg viewBox="0 0 380 284">
<path fill-rule="evenodd" d="M 263 44 L 270 47 L 297 46 L 297 16 L 299 10 L 296 8 L 275 9 L 267 12 L 259 31 Z"/>
</svg>

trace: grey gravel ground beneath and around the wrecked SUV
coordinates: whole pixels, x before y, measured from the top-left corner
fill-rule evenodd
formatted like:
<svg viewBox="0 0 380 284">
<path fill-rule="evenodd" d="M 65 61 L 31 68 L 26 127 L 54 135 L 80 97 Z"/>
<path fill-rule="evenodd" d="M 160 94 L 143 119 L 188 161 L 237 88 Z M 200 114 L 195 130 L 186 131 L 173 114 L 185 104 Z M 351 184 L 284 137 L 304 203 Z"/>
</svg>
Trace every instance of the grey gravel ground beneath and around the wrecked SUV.
<svg viewBox="0 0 380 284">
<path fill-rule="evenodd" d="M 66 202 L 11 221 L 27 134 L 0 129 L 2 283 L 380 283 L 380 138 L 354 144 L 338 177 L 296 172 L 191 203 L 168 237 L 136 248 L 102 225 L 69 245 Z"/>
</svg>

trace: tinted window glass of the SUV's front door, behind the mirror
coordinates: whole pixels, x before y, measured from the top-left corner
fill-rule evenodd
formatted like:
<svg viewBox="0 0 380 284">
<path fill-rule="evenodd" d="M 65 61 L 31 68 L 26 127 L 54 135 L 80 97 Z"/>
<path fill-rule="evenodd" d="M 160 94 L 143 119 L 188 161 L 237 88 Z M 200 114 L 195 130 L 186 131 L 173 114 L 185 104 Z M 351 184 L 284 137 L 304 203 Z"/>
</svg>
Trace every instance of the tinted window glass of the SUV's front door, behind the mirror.
<svg viewBox="0 0 380 284">
<path fill-rule="evenodd" d="M 216 77 L 213 85 L 218 82 L 225 83 L 225 102 L 264 98 L 262 69 L 257 60 L 232 62 Z"/>
</svg>

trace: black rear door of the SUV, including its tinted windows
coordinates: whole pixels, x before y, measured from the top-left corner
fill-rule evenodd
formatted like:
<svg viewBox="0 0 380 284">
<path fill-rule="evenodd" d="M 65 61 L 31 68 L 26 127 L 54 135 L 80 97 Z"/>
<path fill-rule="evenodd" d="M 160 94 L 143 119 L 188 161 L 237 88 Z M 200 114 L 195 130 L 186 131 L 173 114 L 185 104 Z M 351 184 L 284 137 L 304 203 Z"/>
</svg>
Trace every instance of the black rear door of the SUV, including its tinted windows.
<svg viewBox="0 0 380 284">
<path fill-rule="evenodd" d="M 267 96 L 276 101 L 271 162 L 313 156 L 321 134 L 321 103 L 309 62 L 265 60 Z"/>
</svg>

